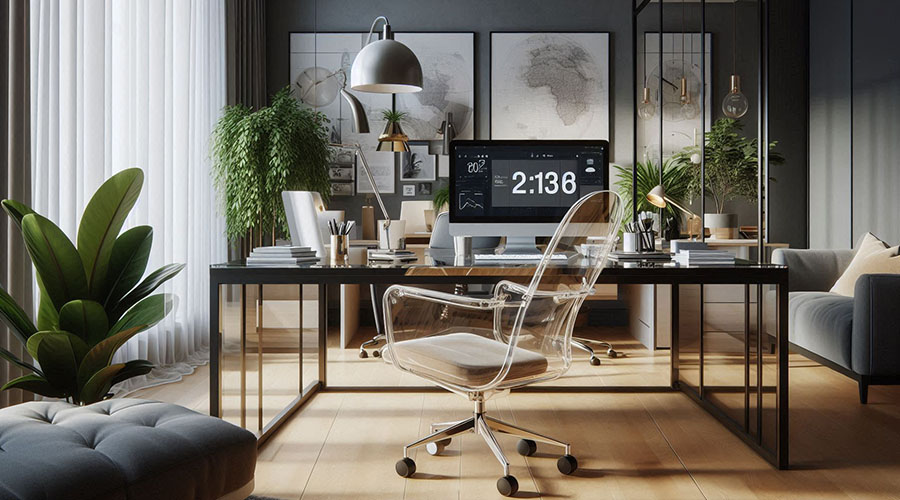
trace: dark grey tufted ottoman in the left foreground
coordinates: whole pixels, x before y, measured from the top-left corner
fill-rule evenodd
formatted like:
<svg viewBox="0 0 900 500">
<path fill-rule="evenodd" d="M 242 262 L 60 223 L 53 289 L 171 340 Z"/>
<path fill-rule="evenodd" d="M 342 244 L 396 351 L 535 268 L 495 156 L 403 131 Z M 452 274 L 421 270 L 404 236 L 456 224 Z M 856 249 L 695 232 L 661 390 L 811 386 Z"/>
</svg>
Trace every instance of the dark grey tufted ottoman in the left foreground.
<svg viewBox="0 0 900 500">
<path fill-rule="evenodd" d="M 112 399 L 0 410 L 0 499 L 243 499 L 256 437 L 180 406 Z"/>
</svg>

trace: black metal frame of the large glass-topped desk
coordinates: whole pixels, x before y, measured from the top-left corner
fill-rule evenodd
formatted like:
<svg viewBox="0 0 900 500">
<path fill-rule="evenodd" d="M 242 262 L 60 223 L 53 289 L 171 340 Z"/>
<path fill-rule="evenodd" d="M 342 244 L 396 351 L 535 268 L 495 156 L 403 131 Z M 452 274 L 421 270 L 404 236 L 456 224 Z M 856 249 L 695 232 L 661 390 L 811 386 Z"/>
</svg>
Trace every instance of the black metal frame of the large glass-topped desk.
<svg viewBox="0 0 900 500">
<path fill-rule="evenodd" d="M 247 285 L 259 286 L 260 292 L 263 285 L 298 285 L 300 288 L 300 321 L 302 326 L 302 294 L 303 285 L 318 285 L 319 291 L 319 326 L 318 326 L 318 378 L 310 381 L 305 387 L 302 380 L 302 335 L 300 343 L 300 394 L 285 408 L 283 408 L 268 424 L 257 432 L 260 444 L 264 443 L 272 434 L 298 409 L 300 409 L 307 401 L 313 398 L 319 392 L 326 391 L 349 391 L 349 392 L 431 392 L 440 389 L 434 387 L 372 387 L 372 386 L 331 386 L 327 380 L 327 325 L 328 325 L 328 308 L 327 297 L 328 287 L 334 285 L 363 285 L 363 284 L 487 284 L 496 283 L 502 279 L 507 279 L 503 275 L 484 275 L 478 273 L 472 274 L 421 274 L 410 272 L 410 270 L 421 269 L 439 269 L 440 266 L 413 265 L 404 267 L 367 267 L 367 266 L 350 266 L 350 267 L 330 267 L 330 266 L 303 266 L 291 268 L 268 268 L 268 267 L 246 267 L 240 263 L 219 264 L 210 266 L 210 332 L 216 334 L 210 335 L 210 415 L 222 416 L 222 333 L 220 330 L 220 313 L 222 299 L 222 285 L 240 285 L 241 286 L 241 362 L 242 362 L 242 396 L 244 393 L 244 384 L 246 373 L 244 370 L 244 360 L 246 355 L 246 287 Z M 598 284 L 655 284 L 655 285 L 672 285 L 672 348 L 671 348 L 671 383 L 664 386 L 532 386 L 523 388 L 523 392 L 671 392 L 680 391 L 695 401 L 701 408 L 716 417 L 726 428 L 731 430 L 735 435 L 740 437 L 750 448 L 756 451 L 760 456 L 769 461 L 772 465 L 779 469 L 786 469 L 789 464 L 788 460 L 788 335 L 787 335 L 787 299 L 788 299 L 788 272 L 787 268 L 774 265 L 736 265 L 734 267 L 634 267 L 626 268 L 618 265 L 611 265 L 604 269 L 600 275 Z M 744 285 L 744 418 L 734 419 L 729 416 L 723 409 L 716 406 L 709 398 L 706 397 L 706 391 L 710 388 L 704 385 L 703 381 L 703 363 L 704 349 L 703 339 L 705 334 L 699 335 L 699 374 L 700 383 L 698 387 L 690 387 L 680 378 L 680 355 L 679 355 L 679 285 Z M 777 383 L 774 388 L 766 388 L 763 384 L 763 366 L 762 366 L 762 335 L 757 335 L 756 345 L 752 346 L 750 341 L 750 287 L 758 285 L 756 290 L 757 304 L 763 303 L 763 286 L 776 287 L 776 325 L 775 335 L 769 334 L 774 339 L 774 346 L 777 346 Z M 701 287 L 702 293 L 703 287 Z M 262 300 L 262 293 L 259 294 L 259 300 Z M 702 299 L 700 304 L 703 304 Z M 258 309 L 262 310 L 261 304 Z M 259 313 L 261 314 L 261 312 Z M 702 314 L 703 306 L 700 307 L 701 322 L 703 325 Z M 762 307 L 757 307 L 757 325 L 759 331 L 762 331 Z M 262 318 L 259 318 L 261 320 Z M 260 321 L 261 323 L 261 321 Z M 260 337 L 258 349 L 261 349 L 262 338 Z M 751 368 L 751 348 L 755 347 L 755 360 L 757 380 L 754 385 L 750 380 Z M 262 356 L 258 356 L 260 368 L 262 365 Z M 261 369 L 260 369 L 261 373 Z M 262 422 L 262 377 L 259 377 L 259 398 L 260 398 L 260 423 Z M 762 390 L 757 390 L 762 388 Z M 727 389 L 740 389 L 730 387 Z M 774 390 L 776 396 L 776 421 L 774 449 L 766 447 L 762 439 L 762 398 L 764 392 L 772 392 Z M 735 392 L 735 391 L 732 391 Z M 758 432 L 755 434 L 750 432 L 750 399 L 751 393 L 756 396 L 756 417 Z M 244 424 L 243 406 L 245 397 L 242 397 L 242 424 Z"/>
</svg>

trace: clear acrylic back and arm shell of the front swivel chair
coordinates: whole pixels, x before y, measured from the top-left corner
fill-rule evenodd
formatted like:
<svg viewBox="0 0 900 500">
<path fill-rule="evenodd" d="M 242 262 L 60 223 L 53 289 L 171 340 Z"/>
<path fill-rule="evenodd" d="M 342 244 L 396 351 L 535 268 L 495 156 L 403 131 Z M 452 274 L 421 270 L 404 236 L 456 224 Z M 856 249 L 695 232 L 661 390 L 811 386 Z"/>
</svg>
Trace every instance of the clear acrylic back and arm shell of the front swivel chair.
<svg viewBox="0 0 900 500">
<path fill-rule="evenodd" d="M 622 210 L 621 199 L 611 191 L 598 191 L 579 199 L 557 227 L 530 282 L 522 285 L 501 281 L 492 299 L 456 299 L 411 287 L 389 288 L 384 296 L 385 323 L 394 363 L 401 370 L 459 393 L 505 389 L 551 380 L 565 373 L 572 362 L 570 342 L 578 310 L 592 293 L 615 247 Z M 551 260 L 552 255 L 559 253 L 570 258 L 563 262 Z M 417 295 L 429 294 L 431 299 L 416 299 Z M 437 366 L 440 363 L 433 363 L 430 357 L 417 357 L 398 344 L 437 335 L 455 334 L 457 339 L 459 332 L 505 343 L 502 366 L 490 365 L 490 373 L 481 372 L 474 379 L 461 377 L 454 374 L 453 363 Z M 522 349 L 531 354 L 521 352 Z M 523 376 L 521 364 L 529 358 L 546 363 Z M 510 375 L 516 359 L 520 368 Z M 496 372 L 494 366 L 499 367 Z"/>
</svg>

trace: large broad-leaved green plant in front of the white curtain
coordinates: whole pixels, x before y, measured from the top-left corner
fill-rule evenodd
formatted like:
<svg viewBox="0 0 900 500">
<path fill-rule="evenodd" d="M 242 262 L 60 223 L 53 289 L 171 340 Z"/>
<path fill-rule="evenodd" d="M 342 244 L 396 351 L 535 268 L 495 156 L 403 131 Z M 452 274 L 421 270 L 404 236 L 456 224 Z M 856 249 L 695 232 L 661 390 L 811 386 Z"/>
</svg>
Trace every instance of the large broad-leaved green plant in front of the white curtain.
<svg viewBox="0 0 900 500">
<path fill-rule="evenodd" d="M 0 347 L 0 357 L 30 372 L 3 390 L 90 404 L 104 399 L 114 384 L 153 368 L 143 359 L 112 364 L 128 339 L 171 310 L 174 298 L 153 292 L 184 268 L 168 264 L 145 277 L 153 228 L 137 226 L 119 234 L 143 183 L 137 168 L 104 182 L 84 209 L 76 243 L 29 207 L 3 200 L 22 232 L 41 294 L 35 325 L 0 288 L 0 319 L 40 365 Z"/>
</svg>

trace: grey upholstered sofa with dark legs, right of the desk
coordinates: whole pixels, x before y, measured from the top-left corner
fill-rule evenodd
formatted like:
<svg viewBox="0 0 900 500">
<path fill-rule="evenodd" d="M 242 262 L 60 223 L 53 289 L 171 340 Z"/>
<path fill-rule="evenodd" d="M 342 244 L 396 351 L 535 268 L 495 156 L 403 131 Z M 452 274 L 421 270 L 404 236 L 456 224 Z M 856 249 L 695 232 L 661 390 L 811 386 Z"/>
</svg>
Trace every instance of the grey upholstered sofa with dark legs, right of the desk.
<svg viewBox="0 0 900 500">
<path fill-rule="evenodd" d="M 852 250 L 777 249 L 772 262 L 788 266 L 792 350 L 859 383 L 900 383 L 900 275 L 866 274 L 853 297 L 828 290 L 853 259 Z"/>
</svg>

